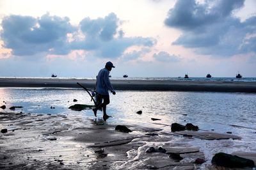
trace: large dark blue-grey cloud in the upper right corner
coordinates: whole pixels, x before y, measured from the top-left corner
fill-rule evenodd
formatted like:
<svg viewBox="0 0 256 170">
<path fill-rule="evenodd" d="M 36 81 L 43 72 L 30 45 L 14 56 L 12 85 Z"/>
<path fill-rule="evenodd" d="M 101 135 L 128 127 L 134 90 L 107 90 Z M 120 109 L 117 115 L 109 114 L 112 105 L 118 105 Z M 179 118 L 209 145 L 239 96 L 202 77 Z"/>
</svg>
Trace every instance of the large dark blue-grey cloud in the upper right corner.
<svg viewBox="0 0 256 170">
<path fill-rule="evenodd" d="M 182 30 L 173 45 L 195 48 L 199 54 L 233 56 L 255 52 L 256 16 L 244 22 L 233 13 L 244 1 L 179 0 L 170 9 L 164 24 Z"/>
</svg>

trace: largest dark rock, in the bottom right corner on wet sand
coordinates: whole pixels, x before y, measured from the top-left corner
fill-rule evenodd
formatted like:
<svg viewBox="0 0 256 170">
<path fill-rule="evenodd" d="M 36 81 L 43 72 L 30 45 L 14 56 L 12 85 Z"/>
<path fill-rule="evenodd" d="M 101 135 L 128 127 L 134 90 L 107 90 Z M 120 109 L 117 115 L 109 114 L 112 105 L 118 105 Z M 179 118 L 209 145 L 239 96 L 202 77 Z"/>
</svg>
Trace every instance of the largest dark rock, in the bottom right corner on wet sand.
<svg viewBox="0 0 256 170">
<path fill-rule="evenodd" d="M 230 155 L 227 153 L 216 153 L 212 157 L 212 164 L 223 167 L 253 167 L 255 166 L 253 160 L 237 157 L 236 155 Z"/>
</svg>

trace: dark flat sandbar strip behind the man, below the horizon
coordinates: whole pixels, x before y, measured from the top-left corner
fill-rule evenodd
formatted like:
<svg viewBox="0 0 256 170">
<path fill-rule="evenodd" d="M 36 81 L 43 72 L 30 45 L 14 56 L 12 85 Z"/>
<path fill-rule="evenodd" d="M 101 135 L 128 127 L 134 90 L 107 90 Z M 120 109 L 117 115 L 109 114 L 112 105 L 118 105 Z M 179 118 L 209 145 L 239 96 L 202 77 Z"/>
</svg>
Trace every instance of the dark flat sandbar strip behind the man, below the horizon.
<svg viewBox="0 0 256 170">
<path fill-rule="evenodd" d="M 16 88 L 94 88 L 95 80 L 86 79 L 0 79 L 0 87 Z M 116 90 L 148 91 L 220 91 L 256 93 L 256 82 L 240 81 L 143 81 L 111 80 Z"/>
</svg>

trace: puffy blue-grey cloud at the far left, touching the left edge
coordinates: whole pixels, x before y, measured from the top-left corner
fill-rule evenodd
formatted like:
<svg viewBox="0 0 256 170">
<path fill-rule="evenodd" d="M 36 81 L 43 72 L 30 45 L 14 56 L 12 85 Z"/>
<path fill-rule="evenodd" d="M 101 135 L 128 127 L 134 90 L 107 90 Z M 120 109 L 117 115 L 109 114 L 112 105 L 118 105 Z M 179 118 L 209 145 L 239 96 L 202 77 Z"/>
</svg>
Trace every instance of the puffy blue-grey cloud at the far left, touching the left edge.
<svg viewBox="0 0 256 170">
<path fill-rule="evenodd" d="M 12 49 L 12 54 L 16 56 L 30 56 L 38 52 L 67 54 L 67 33 L 75 31 L 67 17 L 49 14 L 38 19 L 10 15 L 4 17 L 2 27 L 4 47 Z"/>
</svg>

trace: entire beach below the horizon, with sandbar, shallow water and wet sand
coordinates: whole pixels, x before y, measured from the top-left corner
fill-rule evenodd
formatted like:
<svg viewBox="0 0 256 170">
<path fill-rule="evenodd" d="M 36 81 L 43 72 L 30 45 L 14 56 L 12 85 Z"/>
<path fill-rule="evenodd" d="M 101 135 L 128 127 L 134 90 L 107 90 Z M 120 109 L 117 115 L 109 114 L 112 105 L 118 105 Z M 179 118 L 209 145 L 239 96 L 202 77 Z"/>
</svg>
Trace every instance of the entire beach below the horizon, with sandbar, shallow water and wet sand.
<svg viewBox="0 0 256 170">
<path fill-rule="evenodd" d="M 111 80 L 106 122 L 92 108 L 68 109 L 93 104 L 76 82 L 92 89 L 95 80 L 0 82 L 1 169 L 225 169 L 211 163 L 220 152 L 256 161 L 253 82 Z M 199 130 L 173 132 L 173 123 Z"/>
</svg>

